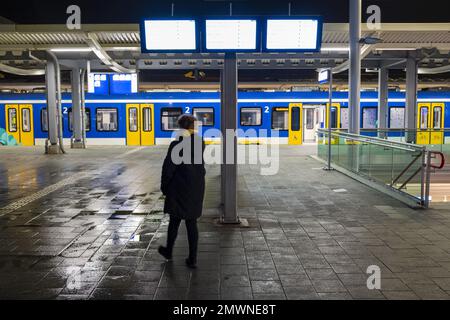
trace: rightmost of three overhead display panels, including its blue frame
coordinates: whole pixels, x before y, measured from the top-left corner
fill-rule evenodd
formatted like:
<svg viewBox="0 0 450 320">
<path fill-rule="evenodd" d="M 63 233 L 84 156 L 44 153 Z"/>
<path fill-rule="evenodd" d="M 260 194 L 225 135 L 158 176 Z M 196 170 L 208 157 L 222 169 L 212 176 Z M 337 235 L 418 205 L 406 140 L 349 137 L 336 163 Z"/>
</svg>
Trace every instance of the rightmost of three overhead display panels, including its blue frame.
<svg viewBox="0 0 450 320">
<path fill-rule="evenodd" d="M 267 19 L 264 25 L 264 51 L 319 51 L 322 43 L 320 17 Z"/>
</svg>

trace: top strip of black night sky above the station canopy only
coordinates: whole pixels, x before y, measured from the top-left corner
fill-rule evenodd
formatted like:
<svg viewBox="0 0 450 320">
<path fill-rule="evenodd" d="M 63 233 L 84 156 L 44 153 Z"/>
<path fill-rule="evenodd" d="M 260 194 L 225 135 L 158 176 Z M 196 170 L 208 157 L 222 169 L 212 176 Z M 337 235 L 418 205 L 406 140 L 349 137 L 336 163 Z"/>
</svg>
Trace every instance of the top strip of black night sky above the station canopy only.
<svg viewBox="0 0 450 320">
<path fill-rule="evenodd" d="M 322 15 L 325 22 L 347 22 L 348 0 L 21 0 L 2 1 L 0 16 L 26 24 L 65 23 L 66 8 L 80 6 L 82 23 L 137 23 L 148 16 L 228 15 L 229 3 L 234 15 L 286 15 L 291 3 L 292 15 Z M 363 19 L 369 5 L 382 11 L 382 22 L 449 22 L 448 0 L 363 0 Z"/>
</svg>

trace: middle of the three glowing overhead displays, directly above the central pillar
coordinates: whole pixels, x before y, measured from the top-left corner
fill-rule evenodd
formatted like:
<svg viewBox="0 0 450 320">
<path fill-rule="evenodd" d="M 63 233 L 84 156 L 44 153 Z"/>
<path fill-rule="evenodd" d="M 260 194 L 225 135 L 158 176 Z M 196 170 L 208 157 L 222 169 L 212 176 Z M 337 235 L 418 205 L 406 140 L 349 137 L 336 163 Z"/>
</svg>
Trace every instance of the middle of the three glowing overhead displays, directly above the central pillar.
<svg viewBox="0 0 450 320">
<path fill-rule="evenodd" d="M 260 51 L 256 19 L 206 19 L 203 51 Z"/>
</svg>

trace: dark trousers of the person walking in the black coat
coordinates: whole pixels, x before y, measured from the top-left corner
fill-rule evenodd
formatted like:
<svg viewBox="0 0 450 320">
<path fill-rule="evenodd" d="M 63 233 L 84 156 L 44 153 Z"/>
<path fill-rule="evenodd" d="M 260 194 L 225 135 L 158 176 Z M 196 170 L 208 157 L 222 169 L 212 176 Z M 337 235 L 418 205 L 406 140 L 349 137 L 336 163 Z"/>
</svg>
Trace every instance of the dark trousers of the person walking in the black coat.
<svg viewBox="0 0 450 320">
<path fill-rule="evenodd" d="M 170 215 L 169 229 L 167 230 L 167 250 L 172 255 L 173 246 L 178 235 L 178 228 L 180 227 L 181 219 L 177 216 Z M 185 220 L 186 230 L 189 241 L 189 260 L 197 260 L 197 246 L 198 246 L 198 229 L 197 219 Z"/>
</svg>

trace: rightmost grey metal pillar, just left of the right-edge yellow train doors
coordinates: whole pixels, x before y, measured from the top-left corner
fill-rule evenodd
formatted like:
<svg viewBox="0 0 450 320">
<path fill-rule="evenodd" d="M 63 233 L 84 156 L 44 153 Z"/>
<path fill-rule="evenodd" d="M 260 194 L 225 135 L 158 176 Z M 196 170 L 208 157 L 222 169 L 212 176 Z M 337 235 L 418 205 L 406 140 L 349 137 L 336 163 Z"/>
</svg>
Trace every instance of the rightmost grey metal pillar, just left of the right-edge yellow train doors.
<svg viewBox="0 0 450 320">
<path fill-rule="evenodd" d="M 417 61 L 413 54 L 406 60 L 406 141 L 416 141 L 416 105 L 417 105 Z"/>
</svg>

